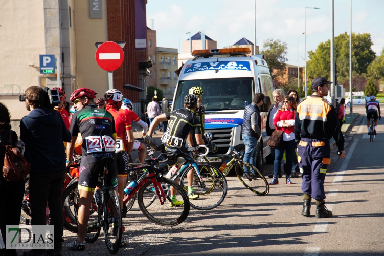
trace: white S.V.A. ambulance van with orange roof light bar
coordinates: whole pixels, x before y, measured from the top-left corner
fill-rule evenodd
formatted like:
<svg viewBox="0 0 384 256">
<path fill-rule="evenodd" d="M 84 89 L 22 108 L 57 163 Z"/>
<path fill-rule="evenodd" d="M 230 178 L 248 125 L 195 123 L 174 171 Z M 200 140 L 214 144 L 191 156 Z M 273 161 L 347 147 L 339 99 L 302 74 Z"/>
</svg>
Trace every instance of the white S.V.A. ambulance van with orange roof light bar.
<svg viewBox="0 0 384 256">
<path fill-rule="evenodd" d="M 248 48 L 193 51 L 195 59 L 188 60 L 180 71 L 172 110 L 183 108 L 183 98 L 191 87 L 199 86 L 204 90 L 205 135 L 218 146 L 216 153 L 208 155 L 213 158 L 231 154 L 230 146 L 236 150 L 245 148 L 242 140 L 244 108 L 252 103 L 255 93 L 263 93 L 266 97 L 261 110 L 262 135 L 257 145 L 256 166 L 262 172 L 263 158 L 267 157 L 269 163 L 273 161 L 267 146 L 269 136 L 265 132 L 273 85 L 264 56 L 246 56 L 250 52 Z M 214 164 L 220 166 L 222 161 Z"/>
</svg>

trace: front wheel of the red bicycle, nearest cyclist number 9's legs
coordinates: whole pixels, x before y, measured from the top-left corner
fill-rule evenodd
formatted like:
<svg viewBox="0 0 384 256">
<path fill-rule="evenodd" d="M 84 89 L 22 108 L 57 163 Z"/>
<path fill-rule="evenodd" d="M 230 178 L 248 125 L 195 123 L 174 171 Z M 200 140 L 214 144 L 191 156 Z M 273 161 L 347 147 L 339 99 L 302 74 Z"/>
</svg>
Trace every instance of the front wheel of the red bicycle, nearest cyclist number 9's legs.
<svg viewBox="0 0 384 256">
<path fill-rule="evenodd" d="M 164 200 L 164 198 L 161 197 L 160 202 L 153 188 L 153 183 L 149 180 L 138 191 L 138 203 L 143 214 L 153 223 L 162 226 L 175 226 L 182 223 L 188 217 L 190 206 L 189 199 L 184 193 L 183 188 L 173 180 L 163 177 L 158 177 L 157 182 L 161 183 L 162 189 L 164 187 L 167 187 L 167 189 L 171 186 L 174 187 L 176 189 L 176 199 L 182 199 L 184 204 L 172 207 L 171 195 L 167 191 L 164 191 L 166 199 Z M 162 189 L 159 189 L 160 194 Z"/>
</svg>

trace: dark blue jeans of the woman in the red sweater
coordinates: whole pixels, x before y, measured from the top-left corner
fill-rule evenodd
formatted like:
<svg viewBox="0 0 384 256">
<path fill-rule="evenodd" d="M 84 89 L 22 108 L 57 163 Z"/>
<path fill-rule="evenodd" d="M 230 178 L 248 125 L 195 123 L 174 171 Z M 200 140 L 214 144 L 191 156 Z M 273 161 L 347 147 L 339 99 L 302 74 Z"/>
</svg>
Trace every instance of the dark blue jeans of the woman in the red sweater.
<svg viewBox="0 0 384 256">
<path fill-rule="evenodd" d="M 292 172 L 293 155 L 295 154 L 296 142 L 295 140 L 283 140 L 280 148 L 275 148 L 275 162 L 274 162 L 274 176 L 279 175 L 281 172 L 281 160 L 285 151 L 285 157 L 287 159 L 285 178 L 289 178 Z"/>
</svg>

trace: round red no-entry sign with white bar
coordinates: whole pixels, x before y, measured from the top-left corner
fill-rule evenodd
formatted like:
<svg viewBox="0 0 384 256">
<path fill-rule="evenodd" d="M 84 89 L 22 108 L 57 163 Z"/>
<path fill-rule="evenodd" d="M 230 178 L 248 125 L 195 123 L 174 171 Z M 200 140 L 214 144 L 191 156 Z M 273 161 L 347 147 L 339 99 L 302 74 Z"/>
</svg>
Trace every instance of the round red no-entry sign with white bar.
<svg viewBox="0 0 384 256">
<path fill-rule="evenodd" d="M 117 70 L 123 61 L 123 49 L 116 42 L 103 42 L 96 50 L 96 62 L 103 70 Z"/>
</svg>

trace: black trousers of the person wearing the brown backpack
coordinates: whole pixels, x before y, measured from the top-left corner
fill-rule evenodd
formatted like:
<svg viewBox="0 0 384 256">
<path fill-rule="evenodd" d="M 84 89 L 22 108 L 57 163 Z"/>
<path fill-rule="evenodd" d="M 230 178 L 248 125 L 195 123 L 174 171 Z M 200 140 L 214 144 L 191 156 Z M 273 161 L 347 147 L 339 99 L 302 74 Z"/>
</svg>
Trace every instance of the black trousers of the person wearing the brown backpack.
<svg viewBox="0 0 384 256">
<path fill-rule="evenodd" d="M 0 177 L 0 230 L 4 244 L 6 243 L 6 225 L 20 223 L 22 197 L 24 196 L 24 180 L 8 182 Z M 0 250 L 0 255 L 17 255 L 16 249 Z"/>
</svg>

